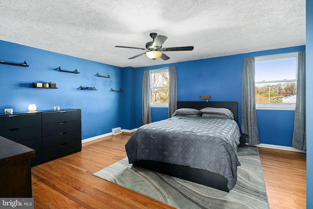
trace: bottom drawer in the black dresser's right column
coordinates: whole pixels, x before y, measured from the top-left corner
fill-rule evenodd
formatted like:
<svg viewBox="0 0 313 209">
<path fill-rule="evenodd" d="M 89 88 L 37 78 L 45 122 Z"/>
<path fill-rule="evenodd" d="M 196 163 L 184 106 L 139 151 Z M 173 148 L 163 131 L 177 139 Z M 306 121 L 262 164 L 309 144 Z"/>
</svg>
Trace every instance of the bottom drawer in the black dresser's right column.
<svg viewBox="0 0 313 209">
<path fill-rule="evenodd" d="M 49 161 L 56 158 L 61 158 L 66 155 L 79 152 L 82 150 L 82 141 L 70 141 L 65 144 L 43 149 L 43 161 Z"/>
</svg>

